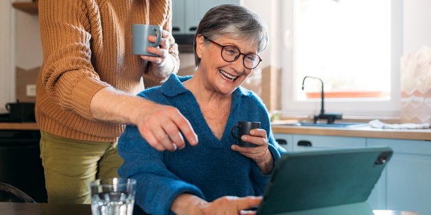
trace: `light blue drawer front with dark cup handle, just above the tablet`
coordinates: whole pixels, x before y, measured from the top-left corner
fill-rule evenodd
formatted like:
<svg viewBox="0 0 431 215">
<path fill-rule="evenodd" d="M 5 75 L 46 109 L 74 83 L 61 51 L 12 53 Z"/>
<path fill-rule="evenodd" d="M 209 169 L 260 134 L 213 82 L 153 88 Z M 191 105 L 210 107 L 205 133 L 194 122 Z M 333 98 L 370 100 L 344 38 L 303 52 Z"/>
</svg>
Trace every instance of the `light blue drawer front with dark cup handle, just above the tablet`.
<svg viewBox="0 0 431 215">
<path fill-rule="evenodd" d="M 365 147 L 365 138 L 352 138 L 342 136 L 300 135 L 293 136 L 293 151 L 342 149 L 351 147 Z"/>
</svg>

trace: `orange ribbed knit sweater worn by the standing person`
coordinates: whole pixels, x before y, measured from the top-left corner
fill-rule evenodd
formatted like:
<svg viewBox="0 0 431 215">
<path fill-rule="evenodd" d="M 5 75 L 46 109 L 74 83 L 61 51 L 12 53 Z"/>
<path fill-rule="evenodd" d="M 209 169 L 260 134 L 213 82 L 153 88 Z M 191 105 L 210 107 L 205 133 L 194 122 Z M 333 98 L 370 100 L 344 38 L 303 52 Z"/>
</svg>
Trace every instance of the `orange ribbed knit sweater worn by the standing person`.
<svg viewBox="0 0 431 215">
<path fill-rule="evenodd" d="M 137 94 L 144 80 L 164 81 L 153 75 L 150 64 L 132 55 L 131 30 L 140 23 L 172 31 L 171 0 L 40 0 L 38 5 L 43 45 L 36 83 L 40 129 L 78 140 L 116 141 L 124 125 L 95 121 L 91 98 L 106 86 Z M 176 72 L 178 46 L 170 53 Z"/>
</svg>

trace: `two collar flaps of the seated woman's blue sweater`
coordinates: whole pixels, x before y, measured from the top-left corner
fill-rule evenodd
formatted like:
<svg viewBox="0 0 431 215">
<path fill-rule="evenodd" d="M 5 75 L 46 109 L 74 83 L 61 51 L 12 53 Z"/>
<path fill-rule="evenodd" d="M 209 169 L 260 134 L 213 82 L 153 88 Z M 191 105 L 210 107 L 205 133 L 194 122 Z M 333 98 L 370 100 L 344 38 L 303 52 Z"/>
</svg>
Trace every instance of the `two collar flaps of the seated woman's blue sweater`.
<svg viewBox="0 0 431 215">
<path fill-rule="evenodd" d="M 165 81 L 165 83 L 161 86 L 161 92 L 165 94 L 166 97 L 175 97 L 179 94 L 183 94 L 185 92 L 190 92 L 187 90 L 187 88 L 184 87 L 183 83 L 184 81 L 187 81 L 188 79 L 191 79 L 191 76 L 177 76 L 175 74 L 171 74 L 170 77 Z M 250 91 L 246 90 L 245 88 L 239 87 L 233 91 L 233 101 L 236 100 L 236 98 L 240 98 L 242 96 L 248 96 L 251 94 Z"/>
</svg>

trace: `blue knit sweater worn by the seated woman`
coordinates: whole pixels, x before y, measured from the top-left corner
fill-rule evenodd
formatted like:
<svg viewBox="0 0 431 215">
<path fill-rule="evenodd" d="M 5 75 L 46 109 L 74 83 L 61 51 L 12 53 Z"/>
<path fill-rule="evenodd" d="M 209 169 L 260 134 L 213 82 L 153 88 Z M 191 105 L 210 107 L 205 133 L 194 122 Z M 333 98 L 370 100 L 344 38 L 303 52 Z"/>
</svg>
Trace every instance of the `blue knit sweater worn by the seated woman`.
<svg viewBox="0 0 431 215">
<path fill-rule="evenodd" d="M 259 196 L 270 175 L 263 175 L 255 162 L 231 150 L 235 140 L 231 127 L 237 121 L 259 121 L 268 134 L 269 150 L 277 161 L 284 149 L 275 142 L 266 108 L 253 92 L 242 87 L 233 92 L 231 113 L 221 140 L 207 125 L 194 95 L 181 83 L 190 77 L 171 75 L 165 83 L 139 96 L 172 105 L 189 120 L 198 135 L 198 145 L 185 149 L 156 151 L 137 127 L 129 125 L 119 138 L 118 152 L 124 159 L 121 177 L 137 179 L 135 202 L 149 214 L 169 214 L 172 201 L 181 193 L 191 193 L 206 201 L 226 195 Z"/>
</svg>

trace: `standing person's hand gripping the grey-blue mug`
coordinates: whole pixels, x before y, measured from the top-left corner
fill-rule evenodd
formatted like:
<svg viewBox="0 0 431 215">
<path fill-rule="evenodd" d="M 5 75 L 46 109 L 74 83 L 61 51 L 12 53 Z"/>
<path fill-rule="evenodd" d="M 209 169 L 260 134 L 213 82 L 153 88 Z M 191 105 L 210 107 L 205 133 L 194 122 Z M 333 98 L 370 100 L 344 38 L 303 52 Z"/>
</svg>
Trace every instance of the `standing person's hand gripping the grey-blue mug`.
<svg viewBox="0 0 431 215">
<path fill-rule="evenodd" d="M 175 42 L 169 31 L 162 29 L 161 32 L 162 37 L 159 47 L 147 47 L 149 53 L 157 56 L 141 55 L 141 58 L 152 63 L 154 75 L 163 78 L 167 77 L 174 69 L 174 57 L 170 55 L 169 51 Z M 148 41 L 154 43 L 156 40 L 156 36 L 148 36 Z"/>
</svg>

